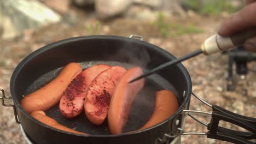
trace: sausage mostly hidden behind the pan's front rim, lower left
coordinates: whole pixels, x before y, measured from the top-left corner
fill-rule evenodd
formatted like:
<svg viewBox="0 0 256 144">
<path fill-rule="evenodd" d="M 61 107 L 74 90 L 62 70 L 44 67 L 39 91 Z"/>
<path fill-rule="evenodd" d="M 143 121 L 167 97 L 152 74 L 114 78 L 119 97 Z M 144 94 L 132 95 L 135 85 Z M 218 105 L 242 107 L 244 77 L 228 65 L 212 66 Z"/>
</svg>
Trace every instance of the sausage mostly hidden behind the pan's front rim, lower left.
<svg viewBox="0 0 256 144">
<path fill-rule="evenodd" d="M 39 122 L 42 122 L 42 123 L 48 125 L 49 127 L 67 131 L 69 133 L 88 135 L 88 134 L 85 134 L 85 133 L 82 133 L 82 132 L 79 132 L 79 131 L 76 131 L 76 130 L 73 130 L 73 129 L 70 129 L 70 128 L 67 128 L 67 127 L 61 125 L 60 123 L 56 122 L 53 118 L 46 116 L 43 111 L 34 111 L 31 113 L 31 116 L 33 118 L 36 118 Z"/>
</svg>

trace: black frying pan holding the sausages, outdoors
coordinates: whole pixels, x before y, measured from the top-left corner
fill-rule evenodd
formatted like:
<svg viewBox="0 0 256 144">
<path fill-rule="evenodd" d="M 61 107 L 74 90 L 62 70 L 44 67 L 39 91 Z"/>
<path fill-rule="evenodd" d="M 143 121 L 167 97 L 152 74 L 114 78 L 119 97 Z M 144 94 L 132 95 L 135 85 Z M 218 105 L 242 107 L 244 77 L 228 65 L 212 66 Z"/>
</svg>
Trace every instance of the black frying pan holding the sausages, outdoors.
<svg viewBox="0 0 256 144">
<path fill-rule="evenodd" d="M 181 134 L 181 127 L 187 114 L 185 111 L 189 109 L 191 79 L 181 63 L 171 65 L 146 78 L 146 86 L 132 104 L 124 131 L 136 130 L 148 121 L 154 110 L 156 91 L 168 89 L 174 92 L 179 102 L 179 109 L 164 122 L 135 133 L 111 135 L 107 122 L 100 126 L 93 125 L 83 112 L 73 119 L 64 118 L 59 112 L 58 105 L 45 112 L 66 127 L 90 135 L 68 133 L 51 128 L 31 117 L 22 109 L 20 100 L 51 81 L 70 62 L 77 62 L 84 69 L 105 63 L 121 65 L 126 69 L 139 66 L 148 70 L 172 59 L 175 57 L 160 47 L 132 38 L 94 35 L 65 39 L 32 52 L 15 68 L 10 79 L 10 92 L 14 105 L 4 103 L 4 99 L 9 97 L 5 97 L 3 89 L 1 89 L 3 97 L 0 98 L 4 106 L 13 106 L 16 122 L 22 125 L 25 133 L 35 143 L 164 143 Z M 219 116 L 217 118 L 221 119 Z M 256 122 L 253 118 L 251 120 Z M 211 124 L 214 127 L 218 126 L 217 123 Z M 250 124 L 249 130 L 255 130 L 253 124 Z M 214 131 L 210 132 L 212 132 L 211 138 L 220 139 L 218 136 L 214 137 Z M 254 134 L 248 135 L 254 137 Z"/>
</svg>

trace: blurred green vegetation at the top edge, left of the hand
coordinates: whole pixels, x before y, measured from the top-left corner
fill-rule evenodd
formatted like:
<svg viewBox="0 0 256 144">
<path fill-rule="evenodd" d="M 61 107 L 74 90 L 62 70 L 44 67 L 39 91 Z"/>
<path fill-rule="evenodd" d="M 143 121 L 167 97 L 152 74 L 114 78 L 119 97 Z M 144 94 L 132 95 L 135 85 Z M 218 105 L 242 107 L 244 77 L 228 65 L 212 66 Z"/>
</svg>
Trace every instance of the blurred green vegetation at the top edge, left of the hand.
<svg viewBox="0 0 256 144">
<path fill-rule="evenodd" d="M 223 11 L 230 14 L 234 13 L 238 9 L 241 9 L 243 5 L 234 7 L 230 1 L 225 0 L 183 0 L 183 6 L 186 9 L 192 9 L 203 15 L 219 15 Z"/>
</svg>

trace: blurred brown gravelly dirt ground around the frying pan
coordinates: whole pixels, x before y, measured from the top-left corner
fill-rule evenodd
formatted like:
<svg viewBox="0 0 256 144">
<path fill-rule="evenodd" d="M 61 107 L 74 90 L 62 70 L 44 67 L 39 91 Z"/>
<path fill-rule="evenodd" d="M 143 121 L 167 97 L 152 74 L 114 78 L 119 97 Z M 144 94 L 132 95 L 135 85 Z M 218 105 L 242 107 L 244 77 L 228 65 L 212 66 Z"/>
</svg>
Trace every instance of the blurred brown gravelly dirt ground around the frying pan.
<svg viewBox="0 0 256 144">
<path fill-rule="evenodd" d="M 11 74 L 16 65 L 29 53 L 40 47 L 66 38 L 77 37 L 88 34 L 108 34 L 129 37 L 131 34 L 142 35 L 144 41 L 167 50 L 176 57 L 185 55 L 188 52 L 200 47 L 203 40 L 216 33 L 223 16 L 200 16 L 194 15 L 181 19 L 179 17 L 168 18 L 168 21 L 177 25 L 192 23 L 193 26 L 203 30 L 201 33 L 188 33 L 174 35 L 171 37 L 161 37 L 158 28 L 149 21 L 142 21 L 130 18 L 117 17 L 113 20 L 100 22 L 100 28 L 88 31 L 88 26 L 93 26 L 97 20 L 91 14 L 83 11 L 76 11 L 78 21 L 73 26 L 67 23 L 57 23 L 43 27 L 37 31 L 27 30 L 21 37 L 12 40 L 0 39 L 0 87 L 5 90 L 6 95 L 10 95 L 9 82 Z M 241 115 L 255 117 L 256 115 L 256 75 L 255 63 L 248 63 L 249 73 L 245 80 L 241 80 L 236 75 L 237 87 L 234 92 L 226 91 L 226 77 L 228 76 L 228 55 L 218 53 L 212 56 L 200 55 L 183 62 L 188 69 L 193 82 L 193 92 L 199 95 L 208 103 L 218 105 L 232 112 Z M 247 94 L 242 91 L 246 90 Z M 190 101 L 191 110 L 211 111 L 195 98 Z M 210 116 L 196 115 L 200 121 L 210 122 Z M 229 128 L 236 128 L 234 125 L 221 123 Z M 187 117 L 184 127 L 185 132 L 207 132 L 206 127 L 198 124 L 193 119 Z M 26 143 L 20 131 L 19 124 L 15 123 L 13 109 L 11 107 L 0 106 L 0 143 Z M 219 140 L 207 139 L 201 135 L 182 136 L 182 143 L 228 143 Z"/>
</svg>

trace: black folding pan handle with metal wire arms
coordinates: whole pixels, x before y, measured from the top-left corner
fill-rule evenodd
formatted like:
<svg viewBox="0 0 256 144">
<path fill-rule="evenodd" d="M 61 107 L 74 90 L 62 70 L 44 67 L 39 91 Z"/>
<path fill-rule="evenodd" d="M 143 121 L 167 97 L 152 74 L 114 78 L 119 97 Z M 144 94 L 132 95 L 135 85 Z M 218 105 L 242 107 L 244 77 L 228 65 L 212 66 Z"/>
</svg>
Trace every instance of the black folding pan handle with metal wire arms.
<svg viewBox="0 0 256 144">
<path fill-rule="evenodd" d="M 211 112 L 202 112 L 202 111 L 193 111 L 193 110 L 183 110 L 182 113 L 187 112 L 188 115 L 195 119 L 195 121 L 205 125 L 209 130 L 207 133 L 183 133 L 182 135 L 188 134 L 203 134 L 207 135 L 208 138 L 218 139 L 223 141 L 228 141 L 232 143 L 253 143 L 252 139 L 256 139 L 256 118 L 246 117 L 238 115 L 237 113 L 233 113 L 231 111 L 225 110 L 222 107 L 217 105 L 208 104 L 206 101 L 202 100 L 198 95 L 192 93 L 197 99 L 199 99 L 203 104 L 212 108 Z M 193 117 L 190 113 L 204 113 L 211 115 L 211 122 L 206 124 L 195 117 Z M 237 131 L 226 129 L 219 126 L 219 121 L 225 121 L 232 124 L 237 125 L 238 127 L 244 128 L 249 132 Z"/>
</svg>

